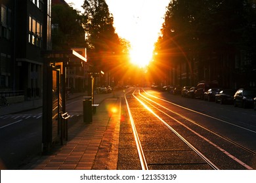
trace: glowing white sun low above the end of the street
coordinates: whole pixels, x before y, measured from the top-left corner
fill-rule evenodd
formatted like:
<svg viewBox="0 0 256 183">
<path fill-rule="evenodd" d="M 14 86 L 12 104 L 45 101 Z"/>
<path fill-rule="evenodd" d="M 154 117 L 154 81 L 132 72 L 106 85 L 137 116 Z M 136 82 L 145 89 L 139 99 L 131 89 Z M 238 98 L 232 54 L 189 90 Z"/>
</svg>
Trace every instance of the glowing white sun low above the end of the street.
<svg viewBox="0 0 256 183">
<path fill-rule="evenodd" d="M 138 67 L 146 67 L 152 59 L 152 52 L 145 46 L 133 46 L 129 55 L 131 63 Z"/>
</svg>

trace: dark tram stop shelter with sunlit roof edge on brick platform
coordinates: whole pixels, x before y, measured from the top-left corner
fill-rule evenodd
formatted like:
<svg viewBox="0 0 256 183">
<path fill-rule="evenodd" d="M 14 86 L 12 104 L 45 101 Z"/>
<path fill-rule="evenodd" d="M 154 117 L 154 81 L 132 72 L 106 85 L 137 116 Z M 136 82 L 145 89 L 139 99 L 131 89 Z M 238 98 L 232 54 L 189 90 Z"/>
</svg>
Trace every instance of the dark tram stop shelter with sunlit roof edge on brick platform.
<svg viewBox="0 0 256 183">
<path fill-rule="evenodd" d="M 42 152 L 47 153 L 55 143 L 68 140 L 68 118 L 66 112 L 66 69 L 81 67 L 87 58 L 75 50 L 42 53 L 43 64 L 43 136 Z"/>
</svg>

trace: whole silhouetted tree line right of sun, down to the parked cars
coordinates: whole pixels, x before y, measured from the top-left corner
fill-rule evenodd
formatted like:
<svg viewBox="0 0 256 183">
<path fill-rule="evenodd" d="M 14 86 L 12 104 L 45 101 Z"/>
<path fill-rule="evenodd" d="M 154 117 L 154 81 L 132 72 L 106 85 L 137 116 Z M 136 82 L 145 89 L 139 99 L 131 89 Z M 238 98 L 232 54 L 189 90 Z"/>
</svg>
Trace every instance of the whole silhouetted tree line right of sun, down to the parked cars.
<svg viewBox="0 0 256 183">
<path fill-rule="evenodd" d="M 255 86 L 255 24 L 253 0 L 173 0 L 156 42 L 154 68 L 161 78 L 175 70 L 167 79 L 171 84 L 218 80 L 226 87 Z"/>
</svg>

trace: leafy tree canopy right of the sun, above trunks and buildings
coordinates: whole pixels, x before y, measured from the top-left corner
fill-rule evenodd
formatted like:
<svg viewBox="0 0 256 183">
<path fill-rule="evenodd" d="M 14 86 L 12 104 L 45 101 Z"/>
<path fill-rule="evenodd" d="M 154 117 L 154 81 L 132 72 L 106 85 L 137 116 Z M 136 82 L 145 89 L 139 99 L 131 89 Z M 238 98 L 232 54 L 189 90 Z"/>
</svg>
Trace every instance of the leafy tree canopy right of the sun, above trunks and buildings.
<svg viewBox="0 0 256 183">
<path fill-rule="evenodd" d="M 211 67 L 213 73 L 211 63 L 221 65 L 224 58 L 241 58 L 244 52 L 243 59 L 255 67 L 255 20 L 253 0 L 170 1 L 156 42 L 155 63 L 163 69 L 163 65 L 186 63 L 188 72 Z M 203 75 L 199 73 L 197 79 Z"/>
</svg>

